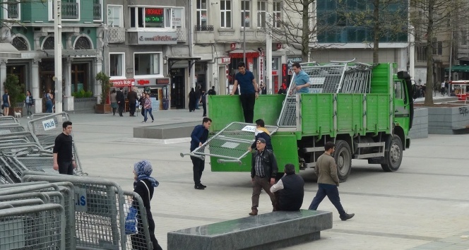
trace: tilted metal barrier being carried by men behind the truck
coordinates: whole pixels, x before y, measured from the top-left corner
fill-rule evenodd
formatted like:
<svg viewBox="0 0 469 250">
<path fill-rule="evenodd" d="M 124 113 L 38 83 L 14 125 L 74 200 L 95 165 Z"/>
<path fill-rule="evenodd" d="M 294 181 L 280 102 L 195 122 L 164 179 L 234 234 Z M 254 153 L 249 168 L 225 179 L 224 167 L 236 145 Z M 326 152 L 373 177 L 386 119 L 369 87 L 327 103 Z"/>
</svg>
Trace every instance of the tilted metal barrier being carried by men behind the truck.
<svg viewBox="0 0 469 250">
<path fill-rule="evenodd" d="M 278 127 L 266 126 L 266 129 L 272 135 L 278 130 Z M 241 158 L 249 153 L 247 148 L 254 143 L 255 131 L 256 126 L 252 124 L 232 122 L 191 153 L 181 153 L 180 155 L 181 157 L 190 155 L 202 159 L 208 155 L 221 158 L 217 160 L 218 162 L 238 162 L 241 164 Z M 209 152 L 206 152 L 207 149 Z"/>
</svg>

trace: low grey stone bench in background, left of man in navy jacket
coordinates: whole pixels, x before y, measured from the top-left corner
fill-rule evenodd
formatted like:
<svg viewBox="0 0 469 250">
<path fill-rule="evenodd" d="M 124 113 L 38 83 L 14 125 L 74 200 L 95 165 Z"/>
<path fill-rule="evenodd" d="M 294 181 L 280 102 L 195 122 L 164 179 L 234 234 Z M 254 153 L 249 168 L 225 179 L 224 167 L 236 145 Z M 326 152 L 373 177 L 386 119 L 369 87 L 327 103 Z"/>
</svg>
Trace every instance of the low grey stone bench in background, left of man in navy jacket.
<svg viewBox="0 0 469 250">
<path fill-rule="evenodd" d="M 199 124 L 202 124 L 202 122 L 193 121 L 182 122 L 179 124 L 134 127 L 133 138 L 174 139 L 191 137 L 191 133 L 192 130 L 194 130 L 194 126 Z"/>
</svg>

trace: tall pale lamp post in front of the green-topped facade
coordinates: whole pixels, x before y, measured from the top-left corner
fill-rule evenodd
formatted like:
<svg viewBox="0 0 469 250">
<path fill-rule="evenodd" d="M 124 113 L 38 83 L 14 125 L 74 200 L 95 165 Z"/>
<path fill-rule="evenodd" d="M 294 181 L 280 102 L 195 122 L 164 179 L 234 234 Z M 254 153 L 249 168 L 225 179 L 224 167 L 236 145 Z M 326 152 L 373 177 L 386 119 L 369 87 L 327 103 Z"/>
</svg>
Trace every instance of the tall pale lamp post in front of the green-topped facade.
<svg viewBox="0 0 469 250">
<path fill-rule="evenodd" d="M 62 20 L 61 0 L 54 0 L 55 112 L 62 112 Z"/>
</svg>

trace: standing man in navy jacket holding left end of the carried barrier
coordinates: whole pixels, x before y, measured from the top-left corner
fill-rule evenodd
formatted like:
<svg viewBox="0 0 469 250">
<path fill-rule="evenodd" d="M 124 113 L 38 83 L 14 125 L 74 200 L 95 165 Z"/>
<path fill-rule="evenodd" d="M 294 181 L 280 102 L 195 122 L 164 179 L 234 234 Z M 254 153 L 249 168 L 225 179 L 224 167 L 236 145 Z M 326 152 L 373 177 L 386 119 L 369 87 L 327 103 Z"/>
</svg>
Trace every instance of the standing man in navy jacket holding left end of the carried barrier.
<svg viewBox="0 0 469 250">
<path fill-rule="evenodd" d="M 202 125 L 197 125 L 194 127 L 194 130 L 191 133 L 191 152 L 200 147 L 208 139 L 208 129 L 212 124 L 212 119 L 204 117 L 202 120 Z M 192 160 L 192 170 L 194 171 L 194 189 L 203 190 L 207 186 L 201 184 L 201 177 L 203 169 L 205 168 L 205 160 L 202 160 L 199 157 L 191 156 Z"/>
</svg>

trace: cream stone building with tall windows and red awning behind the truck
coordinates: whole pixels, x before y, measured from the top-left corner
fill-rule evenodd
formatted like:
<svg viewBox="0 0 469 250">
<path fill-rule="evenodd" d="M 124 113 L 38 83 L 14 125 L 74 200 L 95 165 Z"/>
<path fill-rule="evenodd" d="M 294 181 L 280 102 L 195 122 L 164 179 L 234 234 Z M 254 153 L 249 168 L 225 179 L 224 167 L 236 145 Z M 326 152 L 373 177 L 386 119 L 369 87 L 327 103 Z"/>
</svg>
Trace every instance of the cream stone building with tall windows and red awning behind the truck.
<svg viewBox="0 0 469 250">
<path fill-rule="evenodd" d="M 283 1 L 275 0 L 194 0 L 191 8 L 194 24 L 194 64 L 192 85 L 200 84 L 225 95 L 232 90 L 237 64 L 243 61 L 246 41 L 246 65 L 258 83 L 266 82 L 266 28 L 280 25 Z M 301 61 L 301 52 L 288 47 L 282 40 L 272 42 L 272 90 L 288 81 L 288 71 L 282 71 L 288 61 Z M 282 77 L 282 75 L 284 75 Z"/>
</svg>

